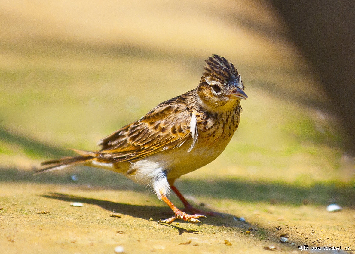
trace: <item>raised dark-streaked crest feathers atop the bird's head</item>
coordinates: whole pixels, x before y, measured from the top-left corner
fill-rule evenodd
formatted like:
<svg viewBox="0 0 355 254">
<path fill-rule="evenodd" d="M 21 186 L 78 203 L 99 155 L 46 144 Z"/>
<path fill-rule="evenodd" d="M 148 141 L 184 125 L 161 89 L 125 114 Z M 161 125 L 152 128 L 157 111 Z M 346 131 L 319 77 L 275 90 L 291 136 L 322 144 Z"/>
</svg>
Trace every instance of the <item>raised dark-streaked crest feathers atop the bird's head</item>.
<svg viewBox="0 0 355 254">
<path fill-rule="evenodd" d="M 219 55 L 212 55 L 206 60 L 202 79 L 209 82 L 219 81 L 222 84 L 239 79 L 238 71 L 227 59 Z"/>
</svg>

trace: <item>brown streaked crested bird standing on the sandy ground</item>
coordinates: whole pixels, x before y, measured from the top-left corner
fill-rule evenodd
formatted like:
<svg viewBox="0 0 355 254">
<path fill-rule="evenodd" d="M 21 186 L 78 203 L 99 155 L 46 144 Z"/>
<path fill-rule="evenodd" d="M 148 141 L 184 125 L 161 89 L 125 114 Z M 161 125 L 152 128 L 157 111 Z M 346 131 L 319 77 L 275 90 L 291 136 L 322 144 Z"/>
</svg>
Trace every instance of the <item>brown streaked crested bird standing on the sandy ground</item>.
<svg viewBox="0 0 355 254">
<path fill-rule="evenodd" d="M 240 101 L 248 98 L 232 63 L 215 54 L 205 62 L 197 88 L 158 104 L 141 119 L 103 138 L 100 150 L 72 149 L 77 156 L 42 162 L 35 174 L 79 164 L 109 169 L 146 185 L 173 210 L 173 217 L 160 222 L 201 222 L 206 213 L 189 204 L 174 186 L 175 180 L 223 152 L 238 128 Z M 169 200 L 171 190 L 186 212 Z"/>
</svg>

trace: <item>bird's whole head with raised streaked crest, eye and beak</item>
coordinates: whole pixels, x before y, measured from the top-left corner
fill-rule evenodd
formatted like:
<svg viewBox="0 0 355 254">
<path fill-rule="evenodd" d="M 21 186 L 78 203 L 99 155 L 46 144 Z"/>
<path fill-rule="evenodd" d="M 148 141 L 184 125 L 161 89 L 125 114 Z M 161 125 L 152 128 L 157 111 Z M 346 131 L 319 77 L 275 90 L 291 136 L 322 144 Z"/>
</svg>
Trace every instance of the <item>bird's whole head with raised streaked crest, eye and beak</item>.
<svg viewBox="0 0 355 254">
<path fill-rule="evenodd" d="M 197 95 L 203 106 L 220 111 L 235 107 L 240 99 L 248 98 L 238 71 L 224 57 L 210 56 L 204 70 L 197 87 Z"/>
</svg>

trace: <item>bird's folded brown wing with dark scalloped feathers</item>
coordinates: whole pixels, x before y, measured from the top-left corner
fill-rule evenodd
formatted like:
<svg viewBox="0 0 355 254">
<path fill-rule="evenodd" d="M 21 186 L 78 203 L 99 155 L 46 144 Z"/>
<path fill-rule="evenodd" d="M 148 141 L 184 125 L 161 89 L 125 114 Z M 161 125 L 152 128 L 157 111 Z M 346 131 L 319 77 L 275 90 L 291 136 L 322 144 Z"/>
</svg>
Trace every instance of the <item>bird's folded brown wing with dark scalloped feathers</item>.
<svg viewBox="0 0 355 254">
<path fill-rule="evenodd" d="M 100 140 L 97 156 L 132 161 L 180 146 L 191 136 L 191 113 L 185 103 L 176 102 L 160 103 L 140 120 Z"/>
</svg>

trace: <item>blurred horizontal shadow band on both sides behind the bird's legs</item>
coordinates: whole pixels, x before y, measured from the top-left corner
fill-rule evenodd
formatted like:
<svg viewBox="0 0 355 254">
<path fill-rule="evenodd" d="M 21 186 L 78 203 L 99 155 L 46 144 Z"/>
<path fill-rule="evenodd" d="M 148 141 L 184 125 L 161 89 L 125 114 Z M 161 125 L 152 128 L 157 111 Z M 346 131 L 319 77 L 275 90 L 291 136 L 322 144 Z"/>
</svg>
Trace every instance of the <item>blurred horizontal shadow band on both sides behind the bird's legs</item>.
<svg viewBox="0 0 355 254">
<path fill-rule="evenodd" d="M 89 190 L 135 190 L 148 192 L 121 174 L 104 169 L 80 167 L 85 170 L 68 170 L 32 175 L 32 172 L 16 169 L 0 170 L 0 182 L 32 182 L 83 186 Z M 71 175 L 78 180 L 72 182 Z M 355 189 L 340 182 L 315 182 L 307 187 L 298 183 L 261 182 L 239 178 L 203 180 L 178 180 L 176 187 L 184 195 L 193 195 L 201 201 L 209 198 L 233 199 L 247 202 L 271 202 L 291 206 L 305 203 L 327 205 L 337 202 L 355 209 Z M 87 188 L 89 186 L 89 188 Z M 147 193 L 147 195 L 150 195 Z"/>
</svg>

